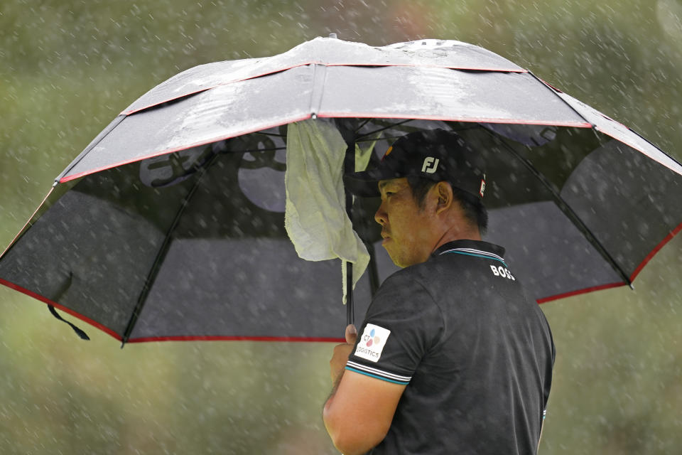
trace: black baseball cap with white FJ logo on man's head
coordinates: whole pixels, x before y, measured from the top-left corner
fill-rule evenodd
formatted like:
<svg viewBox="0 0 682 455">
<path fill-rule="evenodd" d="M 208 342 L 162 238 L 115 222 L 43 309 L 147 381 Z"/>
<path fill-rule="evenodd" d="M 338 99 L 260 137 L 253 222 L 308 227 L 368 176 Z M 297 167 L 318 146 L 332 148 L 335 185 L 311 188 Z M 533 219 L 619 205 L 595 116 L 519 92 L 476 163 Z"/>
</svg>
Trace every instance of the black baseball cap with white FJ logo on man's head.
<svg viewBox="0 0 682 455">
<path fill-rule="evenodd" d="M 381 196 L 377 182 L 419 176 L 448 181 L 455 188 L 482 198 L 485 163 L 459 134 L 445 129 L 413 132 L 396 140 L 371 171 L 347 173 L 346 187 L 356 196 Z"/>
</svg>

